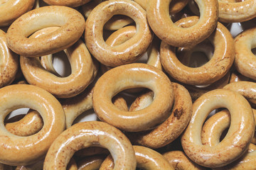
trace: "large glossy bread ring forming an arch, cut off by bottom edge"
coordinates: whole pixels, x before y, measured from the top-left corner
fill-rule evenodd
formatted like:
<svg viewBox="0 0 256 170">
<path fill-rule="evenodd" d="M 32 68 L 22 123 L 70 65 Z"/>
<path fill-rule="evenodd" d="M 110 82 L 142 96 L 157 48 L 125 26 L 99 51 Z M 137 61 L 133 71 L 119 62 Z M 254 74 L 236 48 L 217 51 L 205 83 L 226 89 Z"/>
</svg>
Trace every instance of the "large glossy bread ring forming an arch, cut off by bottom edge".
<svg viewBox="0 0 256 170">
<path fill-rule="evenodd" d="M 75 151 L 92 146 L 110 150 L 114 169 L 135 170 L 136 157 L 127 137 L 112 125 L 97 121 L 75 124 L 59 135 L 46 154 L 43 169 L 64 170 Z"/>
</svg>

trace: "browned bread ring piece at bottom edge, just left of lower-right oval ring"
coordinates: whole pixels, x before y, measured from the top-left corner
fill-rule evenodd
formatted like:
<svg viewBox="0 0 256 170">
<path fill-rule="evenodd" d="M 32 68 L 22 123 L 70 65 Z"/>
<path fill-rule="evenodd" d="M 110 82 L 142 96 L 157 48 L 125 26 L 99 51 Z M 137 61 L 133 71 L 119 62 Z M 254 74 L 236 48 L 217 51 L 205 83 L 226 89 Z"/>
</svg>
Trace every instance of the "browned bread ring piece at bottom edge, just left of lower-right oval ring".
<svg viewBox="0 0 256 170">
<path fill-rule="evenodd" d="M 168 162 L 178 170 L 205 170 L 202 166 L 195 164 L 182 151 L 170 151 L 163 154 Z"/>
</svg>

